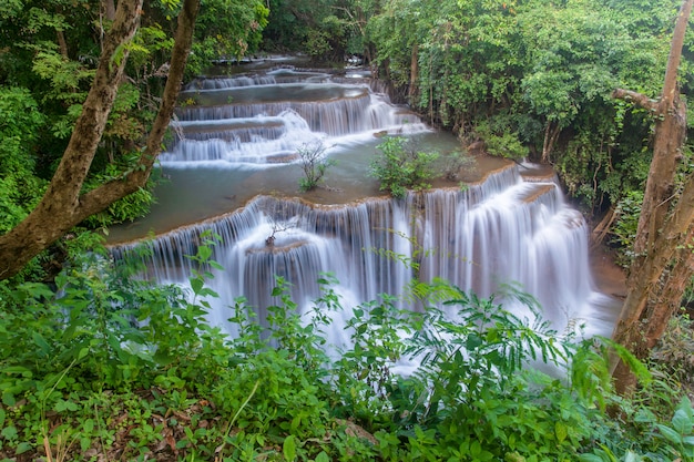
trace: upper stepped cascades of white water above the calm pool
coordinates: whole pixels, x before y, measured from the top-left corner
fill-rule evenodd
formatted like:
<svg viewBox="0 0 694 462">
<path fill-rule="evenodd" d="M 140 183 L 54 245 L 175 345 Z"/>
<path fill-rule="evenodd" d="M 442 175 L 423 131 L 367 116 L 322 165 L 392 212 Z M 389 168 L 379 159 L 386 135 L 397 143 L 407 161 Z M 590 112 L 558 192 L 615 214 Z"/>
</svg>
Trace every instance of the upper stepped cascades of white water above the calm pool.
<svg viewBox="0 0 694 462">
<path fill-rule="evenodd" d="M 280 69 L 263 76 L 200 79 L 181 92 L 164 164 L 287 163 L 300 146 L 376 131 L 426 132 L 411 111 L 363 80 Z M 280 83 L 280 84 L 279 84 Z"/>
</svg>

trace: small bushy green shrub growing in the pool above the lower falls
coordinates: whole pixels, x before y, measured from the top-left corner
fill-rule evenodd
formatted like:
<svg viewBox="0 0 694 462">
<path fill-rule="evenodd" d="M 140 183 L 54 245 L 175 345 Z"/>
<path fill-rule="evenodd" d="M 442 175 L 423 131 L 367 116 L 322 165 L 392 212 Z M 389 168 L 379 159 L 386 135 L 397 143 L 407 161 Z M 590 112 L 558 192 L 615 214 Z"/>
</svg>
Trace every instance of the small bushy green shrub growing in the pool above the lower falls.
<svg viewBox="0 0 694 462">
<path fill-rule="evenodd" d="M 380 154 L 371 162 L 370 174 L 380 181 L 380 191 L 401 198 L 407 189 L 422 191 L 436 175 L 437 153 L 417 152 L 407 138 L 388 136 L 378 145 Z"/>
</svg>

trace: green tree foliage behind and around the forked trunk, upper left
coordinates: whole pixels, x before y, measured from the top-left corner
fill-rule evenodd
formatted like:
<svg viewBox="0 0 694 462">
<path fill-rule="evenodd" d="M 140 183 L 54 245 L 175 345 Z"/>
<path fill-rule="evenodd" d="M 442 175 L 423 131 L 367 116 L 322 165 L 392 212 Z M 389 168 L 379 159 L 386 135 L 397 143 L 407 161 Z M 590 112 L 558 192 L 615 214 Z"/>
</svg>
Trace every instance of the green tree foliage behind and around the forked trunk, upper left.
<svg viewBox="0 0 694 462">
<path fill-rule="evenodd" d="M 120 85 L 88 189 L 127 173 L 132 153 L 144 144 L 159 110 L 180 8 L 177 0 L 147 2 L 134 39 L 122 48 L 121 58 L 130 52 L 127 80 Z M 102 10 L 92 0 L 22 0 L 0 7 L 0 233 L 35 205 L 72 135 L 111 27 Z M 203 2 L 190 70 L 201 72 L 213 59 L 256 51 L 267 16 L 257 0 Z M 151 191 L 140 191 L 83 225 L 133 219 L 152 202 Z"/>
</svg>

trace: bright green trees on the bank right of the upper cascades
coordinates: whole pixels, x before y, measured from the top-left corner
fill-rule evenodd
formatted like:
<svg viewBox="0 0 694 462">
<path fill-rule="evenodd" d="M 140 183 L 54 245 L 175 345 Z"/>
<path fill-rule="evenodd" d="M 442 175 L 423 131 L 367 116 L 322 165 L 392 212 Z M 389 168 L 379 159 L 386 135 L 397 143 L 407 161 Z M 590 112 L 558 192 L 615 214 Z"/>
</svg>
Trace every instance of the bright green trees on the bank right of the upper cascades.
<svg viewBox="0 0 694 462">
<path fill-rule="evenodd" d="M 646 3 L 391 0 L 365 9 L 364 42 L 429 122 L 483 132 L 497 155 L 545 154 L 573 197 L 604 211 L 643 188 L 650 164 L 653 121 L 611 96 L 661 91 L 678 2 Z"/>
</svg>

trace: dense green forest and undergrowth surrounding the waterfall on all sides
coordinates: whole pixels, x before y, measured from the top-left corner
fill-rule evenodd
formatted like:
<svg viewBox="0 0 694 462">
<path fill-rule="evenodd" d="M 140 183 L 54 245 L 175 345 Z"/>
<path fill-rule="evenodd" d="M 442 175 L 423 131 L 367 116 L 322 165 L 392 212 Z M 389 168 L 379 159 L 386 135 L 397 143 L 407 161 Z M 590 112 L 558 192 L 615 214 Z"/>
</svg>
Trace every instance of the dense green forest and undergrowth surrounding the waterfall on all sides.
<svg viewBox="0 0 694 462">
<path fill-rule="evenodd" d="M 686 133 L 653 196 L 655 218 L 643 213 L 659 133 L 671 116 L 694 120 L 687 6 L 1 2 L 0 460 L 693 461 L 694 340 L 680 309 L 694 298 Z M 154 164 L 181 83 L 268 53 L 337 70 L 358 60 L 463 148 L 550 164 L 594 244 L 653 279 L 630 283 L 650 290 L 635 321 L 676 299 L 662 341 L 580 341 L 435 281 L 410 288 L 425 312 L 388 296 L 355 309 L 354 347 L 335 359 L 320 348 L 328 314 L 350 307 L 329 275 L 308 321 L 280 278 L 267 331 L 239 299 L 229 340 L 205 322 L 215 236 L 190 256 L 200 265 L 192 292 L 113 261 L 103 234 L 155 201 Z M 680 96 L 667 100 L 667 88 Z M 443 319 L 441 301 L 461 320 Z M 408 355 L 425 358 L 419 372 L 392 373 Z M 614 387 L 615 357 L 637 386 Z M 535 361 L 560 372 L 524 367 Z"/>
</svg>

